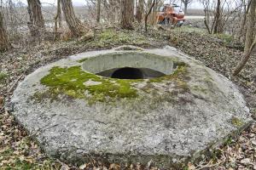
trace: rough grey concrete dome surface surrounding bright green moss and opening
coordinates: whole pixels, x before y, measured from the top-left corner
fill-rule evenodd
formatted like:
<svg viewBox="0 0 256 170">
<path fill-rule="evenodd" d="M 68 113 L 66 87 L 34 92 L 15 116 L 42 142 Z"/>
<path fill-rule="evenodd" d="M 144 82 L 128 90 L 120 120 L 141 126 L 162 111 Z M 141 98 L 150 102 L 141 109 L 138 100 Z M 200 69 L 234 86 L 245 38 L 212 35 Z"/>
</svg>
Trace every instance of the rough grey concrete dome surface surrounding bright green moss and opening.
<svg viewBox="0 0 256 170">
<path fill-rule="evenodd" d="M 80 59 L 112 53 L 125 52 L 106 50 L 61 59 L 33 72 L 15 90 L 13 114 L 50 156 L 67 161 L 155 161 L 160 167 L 170 167 L 195 159 L 251 122 L 246 102 L 234 84 L 170 47 L 137 53 L 184 62 L 188 71 L 181 79 L 132 82 L 136 98 L 92 105 L 65 94 L 58 99 L 34 99 L 36 93 L 49 88 L 40 80 L 52 67 L 82 66 Z M 86 84 L 101 83 L 90 80 Z"/>
</svg>

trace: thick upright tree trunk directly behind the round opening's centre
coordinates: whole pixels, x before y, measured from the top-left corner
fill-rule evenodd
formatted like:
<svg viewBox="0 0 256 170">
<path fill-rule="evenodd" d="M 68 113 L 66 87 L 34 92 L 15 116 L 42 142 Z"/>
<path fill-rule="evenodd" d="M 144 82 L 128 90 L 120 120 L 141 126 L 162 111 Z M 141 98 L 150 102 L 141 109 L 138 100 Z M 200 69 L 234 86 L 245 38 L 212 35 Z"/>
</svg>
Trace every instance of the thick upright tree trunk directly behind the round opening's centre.
<svg viewBox="0 0 256 170">
<path fill-rule="evenodd" d="M 134 0 L 122 0 L 121 4 L 121 26 L 124 29 L 132 30 L 134 19 Z"/>
</svg>

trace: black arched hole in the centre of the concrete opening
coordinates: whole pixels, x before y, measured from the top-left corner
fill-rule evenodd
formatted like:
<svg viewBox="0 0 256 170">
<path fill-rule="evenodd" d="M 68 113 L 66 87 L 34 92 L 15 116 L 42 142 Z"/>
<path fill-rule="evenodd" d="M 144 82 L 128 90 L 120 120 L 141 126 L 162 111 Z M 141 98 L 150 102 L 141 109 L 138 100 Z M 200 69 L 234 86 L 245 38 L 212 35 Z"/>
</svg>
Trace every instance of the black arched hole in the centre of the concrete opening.
<svg viewBox="0 0 256 170">
<path fill-rule="evenodd" d="M 119 79 L 143 79 L 143 71 L 137 68 L 125 67 L 113 71 L 112 78 Z"/>
</svg>

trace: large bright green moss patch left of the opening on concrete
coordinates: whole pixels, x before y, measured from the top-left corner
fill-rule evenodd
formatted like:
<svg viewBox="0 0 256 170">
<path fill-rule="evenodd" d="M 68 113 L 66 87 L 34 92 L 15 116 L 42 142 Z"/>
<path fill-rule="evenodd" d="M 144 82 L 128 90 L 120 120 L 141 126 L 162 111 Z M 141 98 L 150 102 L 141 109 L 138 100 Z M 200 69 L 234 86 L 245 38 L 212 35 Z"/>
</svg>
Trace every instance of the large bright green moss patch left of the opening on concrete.
<svg viewBox="0 0 256 170">
<path fill-rule="evenodd" d="M 96 85 L 85 85 L 84 82 L 98 82 Z M 50 94 L 51 99 L 56 99 L 59 94 L 66 94 L 76 99 L 88 98 L 90 102 L 108 101 L 113 98 L 136 98 L 137 90 L 131 87 L 131 80 L 117 80 L 98 77 L 82 71 L 80 66 L 70 68 L 53 67 L 49 75 L 41 79 L 41 83 L 49 87 L 49 93 L 36 93 L 39 99 Z M 88 91 L 89 95 L 85 95 Z"/>
</svg>

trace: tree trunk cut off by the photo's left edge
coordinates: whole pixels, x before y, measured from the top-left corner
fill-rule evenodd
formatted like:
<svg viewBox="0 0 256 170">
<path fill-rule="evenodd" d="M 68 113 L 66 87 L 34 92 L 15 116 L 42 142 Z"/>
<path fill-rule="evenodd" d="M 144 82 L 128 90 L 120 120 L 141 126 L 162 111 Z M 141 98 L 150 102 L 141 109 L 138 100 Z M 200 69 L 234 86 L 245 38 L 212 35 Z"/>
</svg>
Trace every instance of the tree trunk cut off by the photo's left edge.
<svg viewBox="0 0 256 170">
<path fill-rule="evenodd" d="M 0 52 L 7 51 L 10 47 L 9 39 L 3 26 L 3 13 L 0 8 Z"/>
</svg>

